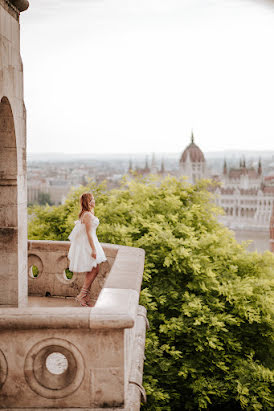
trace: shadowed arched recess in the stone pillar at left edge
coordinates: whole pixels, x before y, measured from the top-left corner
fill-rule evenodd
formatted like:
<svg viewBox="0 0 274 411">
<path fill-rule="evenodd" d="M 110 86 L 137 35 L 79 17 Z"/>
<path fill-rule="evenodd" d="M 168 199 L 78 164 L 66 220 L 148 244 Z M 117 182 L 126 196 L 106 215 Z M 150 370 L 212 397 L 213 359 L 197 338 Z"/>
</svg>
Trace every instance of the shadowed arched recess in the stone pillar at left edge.
<svg viewBox="0 0 274 411">
<path fill-rule="evenodd" d="M 17 148 L 14 118 L 7 97 L 0 101 L 0 249 L 0 304 L 17 305 Z"/>
</svg>

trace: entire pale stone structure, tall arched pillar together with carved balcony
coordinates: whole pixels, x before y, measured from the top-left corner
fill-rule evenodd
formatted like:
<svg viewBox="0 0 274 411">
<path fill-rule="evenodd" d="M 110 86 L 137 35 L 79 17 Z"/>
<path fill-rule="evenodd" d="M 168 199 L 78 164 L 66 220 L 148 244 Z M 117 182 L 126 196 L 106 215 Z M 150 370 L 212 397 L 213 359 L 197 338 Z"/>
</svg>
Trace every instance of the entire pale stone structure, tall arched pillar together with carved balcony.
<svg viewBox="0 0 274 411">
<path fill-rule="evenodd" d="M 105 244 L 94 306 L 80 307 L 74 297 L 83 275 L 66 275 L 69 243 L 27 243 L 19 21 L 28 5 L 0 0 L 0 409 L 138 410 L 143 250 Z"/>
</svg>

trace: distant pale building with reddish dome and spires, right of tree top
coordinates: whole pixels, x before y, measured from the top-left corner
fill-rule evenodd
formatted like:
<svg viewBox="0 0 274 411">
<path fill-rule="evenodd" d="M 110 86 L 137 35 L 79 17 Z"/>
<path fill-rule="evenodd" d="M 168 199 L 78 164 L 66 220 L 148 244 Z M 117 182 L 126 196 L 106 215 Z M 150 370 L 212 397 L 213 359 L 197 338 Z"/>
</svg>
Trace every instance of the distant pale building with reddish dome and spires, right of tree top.
<svg viewBox="0 0 274 411">
<path fill-rule="evenodd" d="M 247 167 L 245 159 L 239 167 L 229 167 L 224 161 L 221 175 L 211 175 L 201 149 L 194 143 L 186 147 L 179 162 L 179 175 L 194 184 L 210 177 L 220 183 L 214 190 L 216 203 L 225 211 L 220 221 L 235 232 L 237 240 L 254 240 L 251 249 L 264 251 L 269 244 L 271 220 L 271 247 L 274 247 L 274 163 L 268 175 L 263 175 L 261 161 L 258 166 Z M 272 215 L 272 217 L 271 217 Z"/>
</svg>

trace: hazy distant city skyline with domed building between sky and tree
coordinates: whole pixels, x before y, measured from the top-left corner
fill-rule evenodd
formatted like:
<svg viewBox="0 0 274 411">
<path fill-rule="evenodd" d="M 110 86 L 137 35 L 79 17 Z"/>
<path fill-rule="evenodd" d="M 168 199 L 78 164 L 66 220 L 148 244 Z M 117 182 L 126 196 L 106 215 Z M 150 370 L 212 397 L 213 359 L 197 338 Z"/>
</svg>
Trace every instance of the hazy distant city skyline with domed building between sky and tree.
<svg viewBox="0 0 274 411">
<path fill-rule="evenodd" d="M 186 140 L 186 139 L 185 139 Z M 238 241 L 251 240 L 250 250 L 269 249 L 269 224 L 274 202 L 274 152 L 203 153 L 191 134 L 181 153 L 109 155 L 30 155 L 28 205 L 63 204 L 71 189 L 90 180 L 119 187 L 128 175 L 164 178 L 187 177 L 195 183 L 211 179 L 216 204 L 223 208 L 220 221 L 235 232 Z"/>
</svg>

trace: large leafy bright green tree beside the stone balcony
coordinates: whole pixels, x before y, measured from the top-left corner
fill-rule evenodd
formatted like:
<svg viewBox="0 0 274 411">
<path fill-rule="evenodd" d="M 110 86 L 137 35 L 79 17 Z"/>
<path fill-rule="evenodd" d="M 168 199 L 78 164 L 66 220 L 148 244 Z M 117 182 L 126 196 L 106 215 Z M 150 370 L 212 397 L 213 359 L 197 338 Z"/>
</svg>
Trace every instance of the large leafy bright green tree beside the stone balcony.
<svg viewBox="0 0 274 411">
<path fill-rule="evenodd" d="M 90 184 L 101 241 L 146 251 L 148 410 L 271 410 L 274 257 L 248 252 L 218 223 L 209 182 Z M 82 187 L 64 205 L 33 207 L 32 239 L 66 240 Z"/>
</svg>

